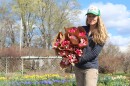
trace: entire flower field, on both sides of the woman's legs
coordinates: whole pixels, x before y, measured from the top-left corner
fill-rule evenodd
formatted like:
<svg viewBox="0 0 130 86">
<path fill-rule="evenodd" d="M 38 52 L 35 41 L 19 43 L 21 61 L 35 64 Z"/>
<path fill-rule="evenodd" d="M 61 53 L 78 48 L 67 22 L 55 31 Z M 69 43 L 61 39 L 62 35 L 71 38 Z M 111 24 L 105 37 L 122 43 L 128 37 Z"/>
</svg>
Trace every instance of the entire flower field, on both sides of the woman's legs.
<svg viewBox="0 0 130 86">
<path fill-rule="evenodd" d="M 0 86 L 76 86 L 73 75 L 59 74 L 16 75 L 0 77 Z M 99 75 L 98 86 L 130 86 L 130 80 L 122 75 Z"/>
</svg>

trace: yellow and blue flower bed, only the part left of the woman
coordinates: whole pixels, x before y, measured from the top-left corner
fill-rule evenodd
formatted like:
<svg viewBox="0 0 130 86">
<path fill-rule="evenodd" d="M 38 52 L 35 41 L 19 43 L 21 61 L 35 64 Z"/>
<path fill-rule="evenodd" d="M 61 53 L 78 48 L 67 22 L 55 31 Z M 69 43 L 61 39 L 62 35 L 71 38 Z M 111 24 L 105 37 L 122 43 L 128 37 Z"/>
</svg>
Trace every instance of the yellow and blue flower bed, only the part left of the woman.
<svg viewBox="0 0 130 86">
<path fill-rule="evenodd" d="M 74 83 L 71 75 L 63 77 L 59 74 L 0 77 L 0 86 L 74 86 Z"/>
</svg>

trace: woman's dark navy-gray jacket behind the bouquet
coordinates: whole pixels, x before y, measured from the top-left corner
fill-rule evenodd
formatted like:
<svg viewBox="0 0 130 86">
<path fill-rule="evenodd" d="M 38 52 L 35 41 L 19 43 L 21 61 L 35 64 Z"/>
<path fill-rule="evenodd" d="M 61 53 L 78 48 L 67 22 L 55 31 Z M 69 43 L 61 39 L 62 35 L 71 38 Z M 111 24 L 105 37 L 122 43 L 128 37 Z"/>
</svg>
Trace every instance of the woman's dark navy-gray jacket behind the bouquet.
<svg viewBox="0 0 130 86">
<path fill-rule="evenodd" d="M 82 26 L 86 32 L 88 33 L 90 28 L 89 26 Z M 75 66 L 80 69 L 90 69 L 96 68 L 98 69 L 98 55 L 101 52 L 103 45 L 95 44 L 92 40 L 92 36 L 88 36 L 89 44 L 87 47 L 83 49 L 83 55 L 79 58 L 79 63 Z"/>
</svg>

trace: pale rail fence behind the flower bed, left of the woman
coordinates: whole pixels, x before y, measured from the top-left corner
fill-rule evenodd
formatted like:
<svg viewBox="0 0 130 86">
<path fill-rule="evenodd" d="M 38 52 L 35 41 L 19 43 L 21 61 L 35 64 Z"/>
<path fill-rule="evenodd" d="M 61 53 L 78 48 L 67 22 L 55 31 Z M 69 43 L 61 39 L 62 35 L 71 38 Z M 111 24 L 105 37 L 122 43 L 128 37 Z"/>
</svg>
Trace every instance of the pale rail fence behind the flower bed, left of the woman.
<svg viewBox="0 0 130 86">
<path fill-rule="evenodd" d="M 1 57 L 0 73 L 20 73 L 20 74 L 45 74 L 45 73 L 66 73 L 71 68 L 62 70 L 59 66 L 61 57 L 35 57 L 24 56 L 21 58 Z"/>
</svg>

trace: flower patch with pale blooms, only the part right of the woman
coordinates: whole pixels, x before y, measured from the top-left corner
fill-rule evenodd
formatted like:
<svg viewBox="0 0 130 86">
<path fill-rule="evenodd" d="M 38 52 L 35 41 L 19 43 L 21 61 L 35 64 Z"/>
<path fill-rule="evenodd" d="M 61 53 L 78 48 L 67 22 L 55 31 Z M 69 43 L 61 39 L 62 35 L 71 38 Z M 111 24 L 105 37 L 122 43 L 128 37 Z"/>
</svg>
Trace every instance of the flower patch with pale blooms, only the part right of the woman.
<svg viewBox="0 0 130 86">
<path fill-rule="evenodd" d="M 130 76 L 99 75 L 98 86 L 130 86 Z"/>
</svg>

